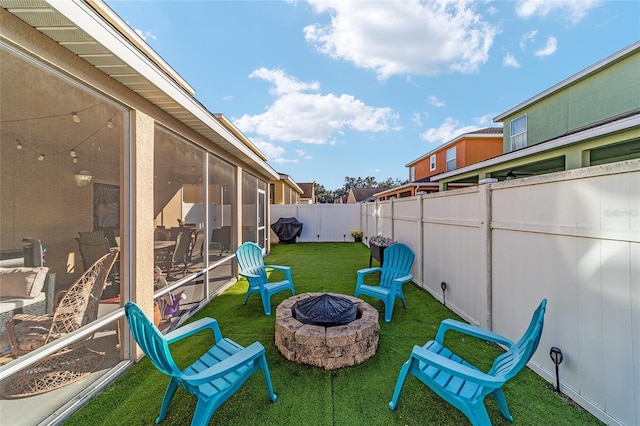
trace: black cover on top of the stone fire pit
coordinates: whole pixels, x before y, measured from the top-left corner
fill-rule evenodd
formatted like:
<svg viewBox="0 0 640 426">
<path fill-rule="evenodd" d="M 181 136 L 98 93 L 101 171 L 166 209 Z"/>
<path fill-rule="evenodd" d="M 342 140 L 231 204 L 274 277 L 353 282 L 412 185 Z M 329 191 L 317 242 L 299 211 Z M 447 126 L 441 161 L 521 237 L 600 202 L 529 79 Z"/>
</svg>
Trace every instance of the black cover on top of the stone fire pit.
<svg viewBox="0 0 640 426">
<path fill-rule="evenodd" d="M 355 321 L 358 307 L 344 297 L 323 294 L 299 301 L 294 305 L 293 313 L 303 324 L 330 327 Z"/>
</svg>

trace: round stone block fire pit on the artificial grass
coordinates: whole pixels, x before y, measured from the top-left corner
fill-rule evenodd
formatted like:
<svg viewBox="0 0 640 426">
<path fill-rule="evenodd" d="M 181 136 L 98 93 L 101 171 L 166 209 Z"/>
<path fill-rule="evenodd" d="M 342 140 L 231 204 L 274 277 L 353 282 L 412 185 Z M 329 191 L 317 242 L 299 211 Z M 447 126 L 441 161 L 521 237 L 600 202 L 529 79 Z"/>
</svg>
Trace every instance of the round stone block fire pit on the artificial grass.
<svg viewBox="0 0 640 426">
<path fill-rule="evenodd" d="M 380 325 L 378 311 L 353 296 L 329 293 L 352 301 L 358 308 L 353 322 L 324 327 L 303 324 L 294 317 L 294 305 L 309 297 L 326 293 L 293 296 L 276 309 L 276 347 L 289 361 L 322 367 L 325 370 L 362 364 L 378 349 Z"/>
</svg>

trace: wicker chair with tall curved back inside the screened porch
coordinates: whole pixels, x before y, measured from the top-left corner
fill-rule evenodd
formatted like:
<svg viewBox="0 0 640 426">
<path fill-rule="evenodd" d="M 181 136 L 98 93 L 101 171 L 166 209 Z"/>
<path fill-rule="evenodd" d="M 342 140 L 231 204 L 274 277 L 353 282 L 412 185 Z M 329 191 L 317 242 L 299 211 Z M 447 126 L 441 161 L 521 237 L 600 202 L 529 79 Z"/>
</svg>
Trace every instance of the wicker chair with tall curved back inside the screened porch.
<svg viewBox="0 0 640 426">
<path fill-rule="evenodd" d="M 14 315 L 6 324 L 14 357 L 24 355 L 47 343 L 95 321 L 100 296 L 119 251 L 113 250 L 98 259 L 60 300 L 53 315 Z"/>
</svg>

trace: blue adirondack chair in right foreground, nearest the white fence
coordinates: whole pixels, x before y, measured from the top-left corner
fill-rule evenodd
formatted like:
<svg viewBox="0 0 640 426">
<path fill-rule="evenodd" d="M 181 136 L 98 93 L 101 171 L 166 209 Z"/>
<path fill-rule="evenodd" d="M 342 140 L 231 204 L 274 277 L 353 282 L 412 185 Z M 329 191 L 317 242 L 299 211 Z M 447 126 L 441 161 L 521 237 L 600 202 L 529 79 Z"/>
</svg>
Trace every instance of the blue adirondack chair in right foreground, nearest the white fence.
<svg viewBox="0 0 640 426">
<path fill-rule="evenodd" d="M 409 360 L 400 369 L 389 408 L 396 408 L 407 374 L 412 374 L 445 401 L 462 411 L 473 425 L 491 424 L 484 405 L 484 397 L 490 393 L 496 399 L 502 415 L 513 421 L 502 392 L 502 385 L 515 377 L 536 351 L 542 335 L 546 305 L 547 300 L 542 300 L 518 343 L 474 325 L 451 319 L 442 321 L 436 340 L 424 346 L 413 347 Z M 483 373 L 444 346 L 444 334 L 447 330 L 498 343 L 505 346 L 507 351 L 493 361 L 487 373 Z"/>
</svg>

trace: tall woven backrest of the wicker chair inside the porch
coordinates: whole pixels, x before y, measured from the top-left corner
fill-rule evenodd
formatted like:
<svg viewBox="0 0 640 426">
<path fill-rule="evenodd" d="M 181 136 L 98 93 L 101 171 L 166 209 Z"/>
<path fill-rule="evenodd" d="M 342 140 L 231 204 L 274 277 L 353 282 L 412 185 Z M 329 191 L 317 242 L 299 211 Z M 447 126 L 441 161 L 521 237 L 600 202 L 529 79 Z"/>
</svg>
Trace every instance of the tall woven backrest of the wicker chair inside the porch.
<svg viewBox="0 0 640 426">
<path fill-rule="evenodd" d="M 100 297 L 119 253 L 102 256 L 69 288 L 53 313 L 52 333 L 70 333 L 98 318 Z"/>
</svg>

